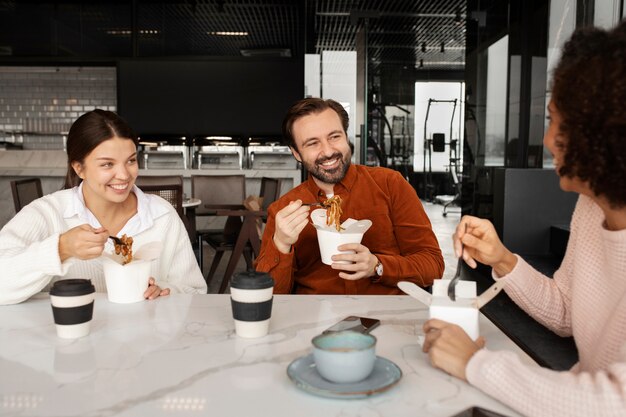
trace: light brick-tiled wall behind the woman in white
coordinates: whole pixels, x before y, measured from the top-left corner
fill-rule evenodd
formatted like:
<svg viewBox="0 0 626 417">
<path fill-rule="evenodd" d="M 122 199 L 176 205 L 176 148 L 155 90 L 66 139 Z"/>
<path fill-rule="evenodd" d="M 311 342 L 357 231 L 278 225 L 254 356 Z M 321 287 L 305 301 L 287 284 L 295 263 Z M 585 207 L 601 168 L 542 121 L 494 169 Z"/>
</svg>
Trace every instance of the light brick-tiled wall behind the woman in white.
<svg viewBox="0 0 626 417">
<path fill-rule="evenodd" d="M 0 67 L 0 140 L 63 149 L 81 114 L 117 110 L 115 67 Z"/>
</svg>

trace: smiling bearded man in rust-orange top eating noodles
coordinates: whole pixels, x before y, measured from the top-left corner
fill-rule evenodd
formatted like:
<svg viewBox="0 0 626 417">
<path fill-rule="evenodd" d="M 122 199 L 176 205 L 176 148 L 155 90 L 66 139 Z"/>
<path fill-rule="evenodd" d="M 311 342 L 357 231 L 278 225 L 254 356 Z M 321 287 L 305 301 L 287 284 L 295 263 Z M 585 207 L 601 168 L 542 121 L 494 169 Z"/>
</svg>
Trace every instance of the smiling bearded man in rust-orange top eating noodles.
<svg viewBox="0 0 626 417">
<path fill-rule="evenodd" d="M 398 281 L 426 287 L 443 275 L 441 249 L 413 187 L 400 173 L 352 165 L 348 114 L 333 100 L 307 98 L 289 109 L 283 135 L 309 178 L 273 203 L 268 212 L 258 271 L 269 272 L 278 294 L 401 294 Z M 347 218 L 369 219 L 352 254 L 321 261 L 309 206 L 338 195 Z M 348 261 L 339 263 L 338 261 Z"/>
</svg>

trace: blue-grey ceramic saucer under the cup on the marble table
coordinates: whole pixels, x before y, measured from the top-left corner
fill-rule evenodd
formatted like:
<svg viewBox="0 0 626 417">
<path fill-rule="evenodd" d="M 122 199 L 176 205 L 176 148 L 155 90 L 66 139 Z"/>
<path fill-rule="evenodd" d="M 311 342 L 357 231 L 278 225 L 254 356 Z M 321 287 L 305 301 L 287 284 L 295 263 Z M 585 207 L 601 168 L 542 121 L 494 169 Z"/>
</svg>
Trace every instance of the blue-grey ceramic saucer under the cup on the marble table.
<svg viewBox="0 0 626 417">
<path fill-rule="evenodd" d="M 336 384 L 322 378 L 315 369 L 313 354 L 309 354 L 291 362 L 287 375 L 298 388 L 321 397 L 366 398 L 393 387 L 402 378 L 402 371 L 395 363 L 377 356 L 374 370 L 363 381 Z"/>
</svg>

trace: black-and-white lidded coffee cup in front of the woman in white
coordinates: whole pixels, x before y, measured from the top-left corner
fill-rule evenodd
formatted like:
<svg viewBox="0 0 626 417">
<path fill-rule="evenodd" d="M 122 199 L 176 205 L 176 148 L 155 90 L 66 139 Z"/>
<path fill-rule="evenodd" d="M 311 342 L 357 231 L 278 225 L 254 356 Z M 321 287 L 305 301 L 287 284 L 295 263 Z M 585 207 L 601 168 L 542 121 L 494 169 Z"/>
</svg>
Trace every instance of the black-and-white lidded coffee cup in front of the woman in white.
<svg viewBox="0 0 626 417">
<path fill-rule="evenodd" d="M 89 334 L 96 289 L 88 279 L 64 279 L 50 288 L 57 336 L 75 339 Z"/>
</svg>

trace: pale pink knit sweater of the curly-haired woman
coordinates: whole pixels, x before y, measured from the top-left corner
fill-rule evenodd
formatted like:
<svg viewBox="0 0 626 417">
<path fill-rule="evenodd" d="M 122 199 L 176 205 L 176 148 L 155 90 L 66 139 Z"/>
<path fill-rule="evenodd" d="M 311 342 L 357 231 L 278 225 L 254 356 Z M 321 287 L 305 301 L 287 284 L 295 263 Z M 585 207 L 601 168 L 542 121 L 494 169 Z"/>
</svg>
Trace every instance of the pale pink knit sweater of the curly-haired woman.
<svg viewBox="0 0 626 417">
<path fill-rule="evenodd" d="M 554 279 L 519 257 L 501 278 L 537 321 L 574 336 L 579 362 L 557 372 L 482 349 L 467 365 L 471 384 L 527 416 L 626 416 L 626 230 L 603 225 L 602 210 L 581 196 Z"/>
</svg>

